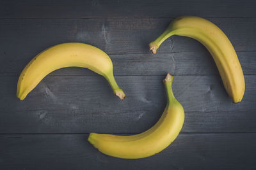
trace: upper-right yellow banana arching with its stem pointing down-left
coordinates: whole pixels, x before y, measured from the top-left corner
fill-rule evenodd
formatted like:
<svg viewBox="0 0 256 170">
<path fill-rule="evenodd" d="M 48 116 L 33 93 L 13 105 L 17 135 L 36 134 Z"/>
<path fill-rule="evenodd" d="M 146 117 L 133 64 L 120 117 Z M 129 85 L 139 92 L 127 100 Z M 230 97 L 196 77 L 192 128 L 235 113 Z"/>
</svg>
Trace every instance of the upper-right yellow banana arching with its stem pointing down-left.
<svg viewBox="0 0 256 170">
<path fill-rule="evenodd" d="M 179 17 L 171 22 L 161 36 L 149 44 L 150 50 L 156 53 L 161 43 L 173 35 L 187 36 L 202 43 L 211 53 L 232 101 L 238 103 L 243 99 L 245 89 L 243 70 L 234 47 L 220 28 L 204 18 Z"/>
</svg>

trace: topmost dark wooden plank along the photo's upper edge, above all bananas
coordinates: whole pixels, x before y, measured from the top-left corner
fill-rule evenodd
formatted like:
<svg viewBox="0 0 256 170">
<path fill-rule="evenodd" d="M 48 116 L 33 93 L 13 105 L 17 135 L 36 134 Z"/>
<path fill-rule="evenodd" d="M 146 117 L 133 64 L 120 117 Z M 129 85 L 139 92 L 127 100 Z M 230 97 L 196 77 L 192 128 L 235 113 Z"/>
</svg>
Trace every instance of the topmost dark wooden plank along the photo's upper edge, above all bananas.
<svg viewBox="0 0 256 170">
<path fill-rule="evenodd" d="M 256 17 L 253 0 L 44 0 L 0 3 L 1 18 Z"/>
</svg>

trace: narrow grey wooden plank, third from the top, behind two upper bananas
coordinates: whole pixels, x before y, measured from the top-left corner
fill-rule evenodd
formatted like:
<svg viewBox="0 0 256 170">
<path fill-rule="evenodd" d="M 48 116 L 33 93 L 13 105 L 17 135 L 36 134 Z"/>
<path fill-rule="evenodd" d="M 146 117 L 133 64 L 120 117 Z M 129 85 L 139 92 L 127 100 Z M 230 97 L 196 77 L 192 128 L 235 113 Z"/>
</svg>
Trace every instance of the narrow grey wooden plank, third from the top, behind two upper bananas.
<svg viewBox="0 0 256 170">
<path fill-rule="evenodd" d="M 15 55 L 3 55 L 0 76 L 19 76 L 22 69 L 33 59 L 32 53 L 20 53 L 20 59 Z M 256 52 L 238 52 L 244 74 L 256 74 Z M 219 74 L 211 55 L 206 52 L 180 53 L 150 53 L 144 54 L 112 54 L 115 76 L 145 76 L 163 75 L 166 72 L 174 75 L 214 75 Z M 88 69 L 67 67 L 52 72 L 49 76 L 93 76 Z"/>
</svg>

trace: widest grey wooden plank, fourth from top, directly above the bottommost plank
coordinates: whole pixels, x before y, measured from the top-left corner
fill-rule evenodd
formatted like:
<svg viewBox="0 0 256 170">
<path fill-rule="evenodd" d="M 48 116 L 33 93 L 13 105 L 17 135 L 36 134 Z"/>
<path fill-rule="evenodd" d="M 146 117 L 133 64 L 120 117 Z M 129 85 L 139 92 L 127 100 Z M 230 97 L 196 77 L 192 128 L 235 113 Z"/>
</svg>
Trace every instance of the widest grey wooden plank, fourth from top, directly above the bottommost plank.
<svg viewBox="0 0 256 170">
<path fill-rule="evenodd" d="M 127 97 L 120 101 L 104 78 L 48 76 L 24 101 L 17 78 L 0 77 L 1 133 L 141 132 L 166 104 L 163 76 L 116 76 Z M 220 76 L 175 76 L 173 92 L 186 112 L 183 132 L 255 132 L 256 76 L 245 76 L 246 92 L 233 104 Z M 188 117 L 187 117 L 188 116 Z M 209 117 L 209 118 L 208 118 Z M 198 119 L 198 121 L 196 120 Z M 243 127 L 243 128 L 241 128 Z"/>
</svg>

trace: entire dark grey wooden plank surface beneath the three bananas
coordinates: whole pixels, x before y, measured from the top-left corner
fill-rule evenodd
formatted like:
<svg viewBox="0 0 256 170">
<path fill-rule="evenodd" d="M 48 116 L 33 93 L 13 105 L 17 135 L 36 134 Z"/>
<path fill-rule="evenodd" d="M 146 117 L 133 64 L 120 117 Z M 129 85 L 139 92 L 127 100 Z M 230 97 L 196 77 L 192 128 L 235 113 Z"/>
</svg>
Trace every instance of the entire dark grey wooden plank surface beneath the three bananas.
<svg viewBox="0 0 256 170">
<path fill-rule="evenodd" d="M 0 169 L 255 169 L 255 8 L 253 0 L 0 1 Z M 211 55 L 194 39 L 173 36 L 156 55 L 148 51 L 180 15 L 207 18 L 230 38 L 245 75 L 241 103 L 232 103 Z M 54 71 L 17 99 L 29 60 L 70 41 L 109 54 L 125 101 L 102 76 L 76 67 Z M 168 72 L 186 114 L 172 145 L 125 160 L 88 143 L 90 132 L 127 135 L 154 125 L 166 104 Z"/>
</svg>

